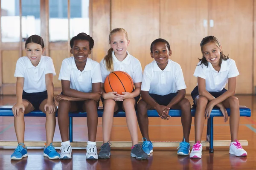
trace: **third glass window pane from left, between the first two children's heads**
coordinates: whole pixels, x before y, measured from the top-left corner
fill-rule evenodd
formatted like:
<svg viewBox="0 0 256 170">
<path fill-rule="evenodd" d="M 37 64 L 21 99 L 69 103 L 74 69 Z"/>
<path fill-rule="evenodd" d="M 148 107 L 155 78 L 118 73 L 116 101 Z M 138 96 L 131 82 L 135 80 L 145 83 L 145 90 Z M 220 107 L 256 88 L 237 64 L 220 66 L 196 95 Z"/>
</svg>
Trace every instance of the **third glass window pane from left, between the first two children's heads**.
<svg viewBox="0 0 256 170">
<path fill-rule="evenodd" d="M 49 41 L 67 40 L 67 0 L 49 0 Z"/>
</svg>

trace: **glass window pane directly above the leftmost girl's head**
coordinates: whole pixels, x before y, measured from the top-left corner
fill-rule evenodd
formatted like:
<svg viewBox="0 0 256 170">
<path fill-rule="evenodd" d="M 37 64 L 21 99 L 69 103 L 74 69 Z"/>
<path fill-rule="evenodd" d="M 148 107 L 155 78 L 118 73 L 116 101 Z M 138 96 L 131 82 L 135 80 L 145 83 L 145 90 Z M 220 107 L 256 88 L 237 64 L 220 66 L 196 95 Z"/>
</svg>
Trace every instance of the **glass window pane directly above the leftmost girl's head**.
<svg viewBox="0 0 256 170">
<path fill-rule="evenodd" d="M 41 34 L 40 0 L 22 0 L 22 39 Z"/>
</svg>

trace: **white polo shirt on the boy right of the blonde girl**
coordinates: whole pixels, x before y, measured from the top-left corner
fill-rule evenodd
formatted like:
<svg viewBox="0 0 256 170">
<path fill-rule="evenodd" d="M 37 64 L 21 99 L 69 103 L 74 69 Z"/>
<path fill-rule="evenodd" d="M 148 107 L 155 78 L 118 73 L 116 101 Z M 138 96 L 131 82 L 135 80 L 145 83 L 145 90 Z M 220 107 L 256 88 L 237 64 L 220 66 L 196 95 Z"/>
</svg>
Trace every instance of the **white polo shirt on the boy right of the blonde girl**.
<svg viewBox="0 0 256 170">
<path fill-rule="evenodd" d="M 142 91 L 148 91 L 149 94 L 158 94 L 161 96 L 177 93 L 178 90 L 186 88 L 182 69 L 177 62 L 168 60 L 164 70 L 161 70 L 157 62 L 146 65 L 143 73 L 141 85 Z"/>
</svg>

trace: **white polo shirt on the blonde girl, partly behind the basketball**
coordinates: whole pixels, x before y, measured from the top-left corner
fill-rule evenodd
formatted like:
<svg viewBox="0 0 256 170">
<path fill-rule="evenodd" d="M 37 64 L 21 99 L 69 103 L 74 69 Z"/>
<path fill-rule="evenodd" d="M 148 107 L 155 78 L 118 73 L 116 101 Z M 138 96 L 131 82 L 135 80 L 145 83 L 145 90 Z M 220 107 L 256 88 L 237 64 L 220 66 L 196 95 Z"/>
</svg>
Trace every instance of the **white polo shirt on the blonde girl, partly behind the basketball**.
<svg viewBox="0 0 256 170">
<path fill-rule="evenodd" d="M 142 82 L 143 74 L 140 61 L 137 58 L 133 57 L 131 54 L 129 54 L 128 51 L 127 54 L 128 55 L 125 57 L 124 60 L 119 61 L 116 58 L 114 51 L 112 52 L 114 71 L 124 71 L 128 73 L 133 79 L 134 83 Z M 104 59 L 102 59 L 102 61 L 100 62 L 100 69 L 102 73 L 102 82 L 104 83 L 106 77 L 108 76 L 108 74 L 110 74 L 110 71 L 108 71 L 105 67 Z"/>
</svg>

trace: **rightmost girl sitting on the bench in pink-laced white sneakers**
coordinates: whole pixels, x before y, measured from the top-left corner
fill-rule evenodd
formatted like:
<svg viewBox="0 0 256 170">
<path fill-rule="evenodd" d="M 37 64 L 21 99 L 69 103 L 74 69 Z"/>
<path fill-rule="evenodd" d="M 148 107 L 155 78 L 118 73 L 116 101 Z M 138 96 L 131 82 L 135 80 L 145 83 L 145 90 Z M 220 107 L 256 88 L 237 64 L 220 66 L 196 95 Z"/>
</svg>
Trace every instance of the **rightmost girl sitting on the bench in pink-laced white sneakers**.
<svg viewBox="0 0 256 170">
<path fill-rule="evenodd" d="M 209 118 L 212 108 L 220 108 L 224 122 L 228 115 L 226 108 L 230 108 L 230 154 L 247 156 L 247 152 L 238 142 L 239 129 L 239 100 L 234 96 L 236 91 L 236 77 L 239 71 L 236 62 L 225 56 L 218 39 L 214 36 L 205 37 L 201 41 L 203 57 L 195 68 L 194 76 L 198 79 L 198 86 L 191 92 L 194 100 L 195 111 L 195 144 L 192 147 L 190 158 L 202 156 L 202 133 L 204 118 Z M 228 83 L 228 90 L 224 87 Z"/>
</svg>

